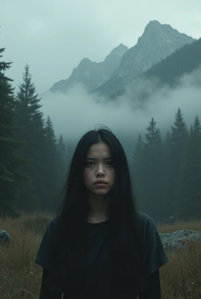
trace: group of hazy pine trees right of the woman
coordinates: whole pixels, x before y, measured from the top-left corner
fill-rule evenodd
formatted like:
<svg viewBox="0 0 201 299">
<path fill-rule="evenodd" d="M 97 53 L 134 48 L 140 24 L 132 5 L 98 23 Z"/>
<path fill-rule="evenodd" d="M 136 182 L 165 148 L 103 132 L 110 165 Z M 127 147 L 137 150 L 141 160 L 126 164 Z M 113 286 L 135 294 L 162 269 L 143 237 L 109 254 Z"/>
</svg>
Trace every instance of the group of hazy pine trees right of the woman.
<svg viewBox="0 0 201 299">
<path fill-rule="evenodd" d="M 154 222 L 175 215 L 201 218 L 201 125 L 196 115 L 190 132 L 179 108 L 174 125 L 162 142 L 152 118 L 145 142 L 138 135 L 132 172 L 140 210 Z"/>
</svg>

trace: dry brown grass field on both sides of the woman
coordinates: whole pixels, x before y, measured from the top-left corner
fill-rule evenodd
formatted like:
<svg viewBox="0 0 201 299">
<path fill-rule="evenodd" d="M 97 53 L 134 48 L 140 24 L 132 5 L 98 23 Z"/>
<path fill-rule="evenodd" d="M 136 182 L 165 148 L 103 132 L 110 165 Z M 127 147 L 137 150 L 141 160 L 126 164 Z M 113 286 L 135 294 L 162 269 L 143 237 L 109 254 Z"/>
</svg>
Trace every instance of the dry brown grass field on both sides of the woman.
<svg viewBox="0 0 201 299">
<path fill-rule="evenodd" d="M 11 237 L 8 247 L 0 246 L 0 299 L 39 298 L 42 267 L 34 259 L 52 217 L 35 213 L 14 220 L 0 218 L 0 229 Z M 201 220 L 157 227 L 159 233 L 201 231 Z M 162 299 L 201 298 L 201 241 L 185 239 L 188 248 L 166 252 L 170 262 L 160 268 Z"/>
</svg>

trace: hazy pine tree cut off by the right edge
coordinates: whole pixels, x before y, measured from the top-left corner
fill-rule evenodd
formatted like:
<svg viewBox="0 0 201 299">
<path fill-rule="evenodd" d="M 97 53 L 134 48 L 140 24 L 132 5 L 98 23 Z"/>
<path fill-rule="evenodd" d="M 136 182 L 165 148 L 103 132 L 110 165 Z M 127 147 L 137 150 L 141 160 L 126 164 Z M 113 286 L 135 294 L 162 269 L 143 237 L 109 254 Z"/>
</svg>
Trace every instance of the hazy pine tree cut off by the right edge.
<svg viewBox="0 0 201 299">
<path fill-rule="evenodd" d="M 173 203 L 179 219 L 200 219 L 201 215 L 201 126 L 198 117 L 186 139 Z"/>
</svg>

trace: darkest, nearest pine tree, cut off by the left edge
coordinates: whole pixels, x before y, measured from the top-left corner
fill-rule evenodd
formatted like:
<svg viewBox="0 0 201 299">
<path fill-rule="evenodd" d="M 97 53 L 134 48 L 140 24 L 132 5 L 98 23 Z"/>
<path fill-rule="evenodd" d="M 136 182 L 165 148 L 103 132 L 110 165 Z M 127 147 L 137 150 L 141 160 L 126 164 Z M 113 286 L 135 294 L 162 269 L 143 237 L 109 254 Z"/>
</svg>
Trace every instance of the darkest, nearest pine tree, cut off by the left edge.
<svg viewBox="0 0 201 299">
<path fill-rule="evenodd" d="M 0 54 L 4 50 L 5 48 L 1 48 Z M 0 213 L 14 218 L 20 215 L 17 204 L 21 198 L 17 182 L 27 179 L 27 176 L 19 172 L 19 166 L 24 165 L 27 160 L 20 158 L 16 153 L 25 142 L 13 139 L 20 128 L 13 125 L 16 115 L 14 88 L 11 88 L 10 84 L 13 80 L 4 75 L 11 63 L 0 61 Z"/>
</svg>

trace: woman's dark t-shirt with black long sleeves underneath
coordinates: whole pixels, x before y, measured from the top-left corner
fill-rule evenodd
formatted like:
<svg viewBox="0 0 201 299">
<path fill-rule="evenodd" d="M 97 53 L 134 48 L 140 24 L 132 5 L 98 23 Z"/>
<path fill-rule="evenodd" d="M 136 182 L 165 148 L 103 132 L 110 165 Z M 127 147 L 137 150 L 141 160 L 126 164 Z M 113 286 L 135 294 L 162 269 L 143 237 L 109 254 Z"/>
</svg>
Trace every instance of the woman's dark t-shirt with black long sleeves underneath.
<svg viewBox="0 0 201 299">
<path fill-rule="evenodd" d="M 158 229 L 153 219 L 140 211 L 137 212 L 140 225 L 143 232 L 143 240 L 146 243 L 147 257 L 145 261 L 147 276 L 147 289 L 144 294 L 127 295 L 121 294 L 119 299 L 139 299 L 161 298 L 159 268 L 169 262 L 169 258 L 165 253 L 162 241 L 160 239 Z M 56 217 L 52 218 L 44 232 L 34 263 L 42 266 L 47 270 L 43 270 L 43 278 L 41 283 L 41 292 L 39 299 L 44 298 L 61 298 L 61 292 L 48 294 L 43 285 L 45 277 L 48 275 L 49 265 L 49 246 L 51 238 L 55 231 Z M 100 223 L 88 223 L 86 226 L 85 240 L 85 270 L 86 285 L 85 294 L 89 299 L 110 299 L 110 280 L 112 274 L 112 266 L 109 257 L 109 243 L 106 240 L 107 227 L 110 219 Z M 50 297 L 53 296 L 53 297 Z M 152 296 L 152 297 L 151 297 Z M 82 296 L 83 298 L 83 296 Z M 68 297 L 67 290 L 64 291 L 63 299 L 71 299 Z M 76 298 L 78 299 L 78 298 Z M 81 299 L 81 298 L 79 298 Z"/>
</svg>

